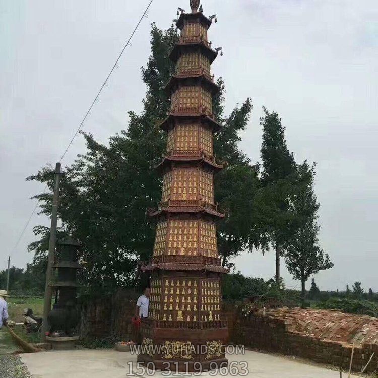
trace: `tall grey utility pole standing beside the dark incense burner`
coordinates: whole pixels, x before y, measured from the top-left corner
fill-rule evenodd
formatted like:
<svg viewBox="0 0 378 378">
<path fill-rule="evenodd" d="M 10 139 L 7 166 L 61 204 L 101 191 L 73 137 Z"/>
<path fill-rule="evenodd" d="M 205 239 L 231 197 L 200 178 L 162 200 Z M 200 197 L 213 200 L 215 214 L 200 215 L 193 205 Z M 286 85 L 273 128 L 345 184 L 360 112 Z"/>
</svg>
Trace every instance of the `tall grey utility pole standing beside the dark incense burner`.
<svg viewBox="0 0 378 378">
<path fill-rule="evenodd" d="M 59 183 L 60 183 L 60 163 L 55 166 L 55 186 L 54 195 L 52 198 L 52 212 L 51 212 L 51 226 L 50 226 L 50 241 L 48 244 L 48 260 L 46 270 L 46 285 L 45 285 L 45 299 L 43 303 L 43 322 L 42 322 L 42 341 L 46 339 L 46 332 L 48 331 L 47 316 L 51 311 L 51 273 L 52 264 L 55 257 L 55 244 L 56 244 L 56 224 L 58 219 L 58 203 L 59 203 Z"/>
</svg>

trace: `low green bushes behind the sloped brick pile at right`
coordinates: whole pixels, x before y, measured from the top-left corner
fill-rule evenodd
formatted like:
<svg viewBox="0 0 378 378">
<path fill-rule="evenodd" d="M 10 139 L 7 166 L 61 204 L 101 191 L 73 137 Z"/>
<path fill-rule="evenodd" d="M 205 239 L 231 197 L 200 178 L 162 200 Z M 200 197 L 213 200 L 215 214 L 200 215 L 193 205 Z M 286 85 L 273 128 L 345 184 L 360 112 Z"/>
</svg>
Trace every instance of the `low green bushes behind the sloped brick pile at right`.
<svg viewBox="0 0 378 378">
<path fill-rule="evenodd" d="M 378 304 L 364 299 L 330 298 L 317 303 L 314 307 L 321 309 L 338 309 L 347 313 L 369 315 L 378 318 Z"/>
</svg>

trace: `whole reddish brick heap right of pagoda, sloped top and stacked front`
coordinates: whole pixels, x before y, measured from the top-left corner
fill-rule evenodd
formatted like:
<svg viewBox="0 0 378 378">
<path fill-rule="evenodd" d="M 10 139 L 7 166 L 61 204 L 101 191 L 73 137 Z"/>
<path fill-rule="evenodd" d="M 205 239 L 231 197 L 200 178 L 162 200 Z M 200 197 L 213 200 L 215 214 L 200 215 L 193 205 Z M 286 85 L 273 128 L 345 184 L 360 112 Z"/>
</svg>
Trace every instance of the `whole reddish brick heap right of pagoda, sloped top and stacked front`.
<svg viewBox="0 0 378 378">
<path fill-rule="evenodd" d="M 238 317 L 232 340 L 245 346 L 366 372 L 377 369 L 378 319 L 337 311 L 280 308 Z"/>
</svg>

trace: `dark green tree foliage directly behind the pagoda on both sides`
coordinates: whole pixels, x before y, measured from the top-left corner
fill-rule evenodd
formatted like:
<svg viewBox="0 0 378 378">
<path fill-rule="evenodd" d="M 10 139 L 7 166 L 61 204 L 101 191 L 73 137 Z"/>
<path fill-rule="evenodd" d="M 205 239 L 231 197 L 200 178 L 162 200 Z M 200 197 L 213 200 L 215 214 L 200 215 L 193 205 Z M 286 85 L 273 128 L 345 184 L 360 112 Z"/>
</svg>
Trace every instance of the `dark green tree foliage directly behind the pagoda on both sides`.
<svg viewBox="0 0 378 378">
<path fill-rule="evenodd" d="M 146 209 L 156 207 L 161 199 L 161 177 L 154 166 L 161 159 L 166 138 L 156 124 L 169 109 L 169 98 L 162 87 L 174 71 L 166 56 L 177 38 L 173 28 L 162 32 L 152 24 L 151 56 L 142 68 L 147 92 L 141 115 L 130 111 L 127 130 L 110 137 L 108 146 L 82 133 L 87 151 L 65 168 L 60 187 L 61 232 L 72 232 L 83 243 L 82 259 L 87 265 L 82 278 L 88 288 L 111 290 L 136 285 L 137 262 L 151 255 L 155 223 Z M 218 84 L 224 88 L 221 78 Z M 213 111 L 223 126 L 215 136 L 215 154 L 229 164 L 215 181 L 216 201 L 227 210 L 219 225 L 219 250 L 225 264 L 240 250 L 259 243 L 254 207 L 259 192 L 258 168 L 238 149 L 239 132 L 245 129 L 252 108 L 250 100 L 236 106 L 226 119 L 223 89 L 213 102 Z M 40 200 L 41 213 L 48 216 L 51 172 L 51 167 L 46 167 L 28 178 L 47 183 L 50 193 L 35 198 Z M 40 227 L 35 232 L 42 238 L 29 249 L 39 261 L 46 256 L 46 234 L 38 235 Z"/>
</svg>

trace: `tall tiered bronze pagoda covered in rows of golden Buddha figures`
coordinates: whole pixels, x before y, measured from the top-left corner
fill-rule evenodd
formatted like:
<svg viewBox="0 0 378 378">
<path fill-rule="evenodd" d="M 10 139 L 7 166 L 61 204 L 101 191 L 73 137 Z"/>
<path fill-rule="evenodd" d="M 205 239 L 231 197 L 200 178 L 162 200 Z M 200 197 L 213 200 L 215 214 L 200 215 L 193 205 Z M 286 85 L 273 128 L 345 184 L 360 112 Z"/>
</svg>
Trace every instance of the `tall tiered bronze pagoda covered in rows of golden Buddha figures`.
<svg viewBox="0 0 378 378">
<path fill-rule="evenodd" d="M 171 108 L 160 127 L 168 133 L 151 273 L 148 318 L 142 319 L 138 361 L 155 369 L 198 371 L 226 366 L 227 320 L 222 315 L 221 275 L 228 272 L 218 256 L 213 175 L 223 168 L 213 153 L 220 125 L 212 112 L 219 91 L 210 65 L 218 55 L 208 41 L 212 18 L 191 0 L 191 13 L 176 22 L 179 41 L 169 58 L 176 71 L 165 90 Z M 149 364 L 151 365 L 151 364 Z M 168 367 L 169 368 L 169 367 Z"/>
</svg>

